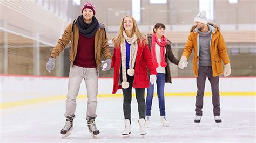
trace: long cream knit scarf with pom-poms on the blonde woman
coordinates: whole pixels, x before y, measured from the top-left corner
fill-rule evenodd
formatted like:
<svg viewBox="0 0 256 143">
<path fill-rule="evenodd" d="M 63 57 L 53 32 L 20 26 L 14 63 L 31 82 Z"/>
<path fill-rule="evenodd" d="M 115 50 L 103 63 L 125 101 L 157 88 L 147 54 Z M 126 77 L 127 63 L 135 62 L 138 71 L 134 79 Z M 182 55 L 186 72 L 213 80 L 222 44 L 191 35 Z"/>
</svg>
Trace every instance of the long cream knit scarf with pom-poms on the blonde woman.
<svg viewBox="0 0 256 143">
<path fill-rule="evenodd" d="M 130 61 L 129 61 L 129 69 L 127 71 L 127 74 L 129 76 L 134 75 L 134 65 L 136 61 L 137 51 L 138 51 L 138 42 L 136 34 L 133 35 L 133 37 L 129 38 L 127 37 L 125 31 L 123 31 L 123 42 L 121 43 L 121 62 L 122 62 L 122 88 L 126 89 L 129 87 L 129 82 L 127 82 L 127 76 L 126 76 L 126 44 L 125 40 L 131 44 L 130 46 Z"/>
</svg>

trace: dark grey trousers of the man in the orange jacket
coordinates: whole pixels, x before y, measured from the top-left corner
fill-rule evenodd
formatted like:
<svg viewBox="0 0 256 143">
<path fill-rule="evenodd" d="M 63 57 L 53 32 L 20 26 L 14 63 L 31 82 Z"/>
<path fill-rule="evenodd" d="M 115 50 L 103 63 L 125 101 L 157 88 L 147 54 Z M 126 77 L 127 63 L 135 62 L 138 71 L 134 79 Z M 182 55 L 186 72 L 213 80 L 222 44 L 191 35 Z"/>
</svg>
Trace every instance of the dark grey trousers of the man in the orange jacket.
<svg viewBox="0 0 256 143">
<path fill-rule="evenodd" d="M 211 66 L 199 66 L 197 77 L 197 101 L 196 101 L 196 115 L 202 116 L 205 80 L 208 77 L 212 87 L 212 105 L 214 116 L 220 116 L 220 95 L 219 95 L 219 76 L 212 76 Z"/>
</svg>

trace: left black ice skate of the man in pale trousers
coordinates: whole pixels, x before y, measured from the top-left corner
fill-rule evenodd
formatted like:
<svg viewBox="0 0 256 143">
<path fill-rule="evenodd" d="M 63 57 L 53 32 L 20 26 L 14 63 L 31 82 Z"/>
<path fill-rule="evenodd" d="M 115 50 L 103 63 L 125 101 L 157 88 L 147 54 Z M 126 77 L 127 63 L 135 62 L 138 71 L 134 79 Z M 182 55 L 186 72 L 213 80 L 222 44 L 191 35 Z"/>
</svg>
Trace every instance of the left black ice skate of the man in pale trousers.
<svg viewBox="0 0 256 143">
<path fill-rule="evenodd" d="M 73 130 L 73 119 L 75 117 L 76 117 L 75 115 L 66 117 L 66 124 L 60 131 L 60 133 L 62 134 L 62 138 L 66 138 L 71 134 L 71 131 Z"/>
</svg>

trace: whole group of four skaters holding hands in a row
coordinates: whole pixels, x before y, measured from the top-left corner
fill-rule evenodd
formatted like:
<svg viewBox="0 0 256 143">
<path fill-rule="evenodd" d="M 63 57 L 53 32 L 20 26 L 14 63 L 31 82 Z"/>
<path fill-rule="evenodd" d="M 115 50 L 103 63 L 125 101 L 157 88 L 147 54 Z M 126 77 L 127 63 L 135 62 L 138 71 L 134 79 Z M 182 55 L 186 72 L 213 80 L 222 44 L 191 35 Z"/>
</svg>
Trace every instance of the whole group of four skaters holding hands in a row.
<svg viewBox="0 0 256 143">
<path fill-rule="evenodd" d="M 152 34 L 142 34 L 136 20 L 124 16 L 116 37 L 112 39 L 114 50 L 110 51 L 105 26 L 95 17 L 95 5 L 88 1 L 84 4 L 82 15 L 73 20 L 66 28 L 62 37 L 52 49 L 46 70 L 50 73 L 55 68 L 57 56 L 71 41 L 70 73 L 68 94 L 66 95 L 66 123 L 60 133 L 68 137 L 73 129 L 75 119 L 76 99 L 82 80 L 87 89 L 86 120 L 89 132 L 98 138 L 96 127 L 96 109 L 98 94 L 98 70 L 114 68 L 113 91 L 123 91 L 123 112 L 125 129 L 123 135 L 131 134 L 131 101 L 132 88 L 138 103 L 140 134 L 145 135 L 146 126 L 150 126 L 154 85 L 157 86 L 160 122 L 169 127 L 165 113 L 165 83 L 172 83 L 168 61 L 180 69 L 187 67 L 187 59 L 193 51 L 193 73 L 197 78 L 196 115 L 194 122 L 200 123 L 203 115 L 203 97 L 206 77 L 211 83 L 213 114 L 216 123 L 220 118 L 219 75 L 231 74 L 230 59 L 226 44 L 219 26 L 207 22 L 206 12 L 199 12 L 194 18 L 181 59 L 177 59 L 171 47 L 171 41 L 164 36 L 165 25 L 156 23 Z M 102 56 L 104 61 L 101 61 Z M 224 63 L 224 69 L 222 62 Z M 145 88 L 147 96 L 145 101 Z"/>
</svg>

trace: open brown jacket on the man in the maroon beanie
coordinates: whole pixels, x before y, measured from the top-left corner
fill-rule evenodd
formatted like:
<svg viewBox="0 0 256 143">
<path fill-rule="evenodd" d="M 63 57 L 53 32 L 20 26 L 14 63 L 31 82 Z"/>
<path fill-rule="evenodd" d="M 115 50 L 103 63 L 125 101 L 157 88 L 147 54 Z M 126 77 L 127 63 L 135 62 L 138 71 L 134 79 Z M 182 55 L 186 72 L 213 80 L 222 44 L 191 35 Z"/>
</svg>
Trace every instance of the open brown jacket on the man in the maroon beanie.
<svg viewBox="0 0 256 143">
<path fill-rule="evenodd" d="M 73 22 L 74 23 L 74 22 Z M 60 38 L 56 44 L 56 46 L 52 49 L 51 56 L 56 58 L 60 52 L 69 44 L 71 40 L 71 48 L 69 60 L 71 66 L 73 66 L 73 62 L 76 58 L 77 54 L 77 45 L 79 39 L 79 30 L 77 24 L 70 23 L 68 27 L 66 27 L 64 33 L 62 34 L 62 38 Z M 73 25 L 73 26 L 72 26 Z M 72 30 L 73 28 L 73 30 Z M 73 31 L 73 32 L 72 32 Z M 105 32 L 105 26 L 99 23 L 99 28 L 95 34 L 95 61 L 97 65 L 97 69 L 100 65 L 101 54 L 103 54 L 105 59 L 112 59 L 112 55 L 110 52 L 109 44 L 107 44 L 107 35 Z"/>
</svg>

